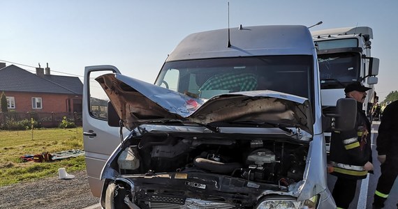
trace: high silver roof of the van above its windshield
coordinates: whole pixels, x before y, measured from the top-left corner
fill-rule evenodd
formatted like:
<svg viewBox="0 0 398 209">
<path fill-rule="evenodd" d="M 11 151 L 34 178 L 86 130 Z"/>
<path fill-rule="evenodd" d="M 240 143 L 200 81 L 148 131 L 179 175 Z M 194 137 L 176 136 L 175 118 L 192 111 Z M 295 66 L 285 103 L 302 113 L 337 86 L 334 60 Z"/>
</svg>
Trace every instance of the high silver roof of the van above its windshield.
<svg viewBox="0 0 398 209">
<path fill-rule="evenodd" d="M 274 25 L 192 33 L 179 42 L 166 61 L 235 56 L 311 55 L 314 42 L 307 26 Z"/>
</svg>

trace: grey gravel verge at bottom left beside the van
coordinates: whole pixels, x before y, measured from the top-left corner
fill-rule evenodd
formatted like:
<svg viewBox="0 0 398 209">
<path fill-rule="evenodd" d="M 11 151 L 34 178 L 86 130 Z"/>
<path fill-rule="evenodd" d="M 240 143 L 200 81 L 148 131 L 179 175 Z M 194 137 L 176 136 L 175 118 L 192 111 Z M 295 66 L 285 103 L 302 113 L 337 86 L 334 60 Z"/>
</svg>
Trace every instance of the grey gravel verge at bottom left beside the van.
<svg viewBox="0 0 398 209">
<path fill-rule="evenodd" d="M 31 183 L 0 187 L 0 208 L 85 208 L 97 204 L 86 171 L 69 173 L 70 180 L 51 177 Z M 98 205 L 98 204 L 97 204 Z"/>
</svg>

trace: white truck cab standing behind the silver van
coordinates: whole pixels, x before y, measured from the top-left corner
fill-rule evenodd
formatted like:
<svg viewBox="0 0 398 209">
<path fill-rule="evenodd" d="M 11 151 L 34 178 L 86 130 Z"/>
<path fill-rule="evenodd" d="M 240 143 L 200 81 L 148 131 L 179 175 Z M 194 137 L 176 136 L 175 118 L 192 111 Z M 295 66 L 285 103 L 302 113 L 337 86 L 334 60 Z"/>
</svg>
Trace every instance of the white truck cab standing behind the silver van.
<svg viewBox="0 0 398 209">
<path fill-rule="evenodd" d="M 317 48 L 321 104 L 325 113 L 334 111 L 336 101 L 344 98 L 344 88 L 351 82 L 361 82 L 371 88 L 363 110 L 371 118 L 371 107 L 376 98 L 379 59 L 371 57 L 373 31 L 369 26 L 311 31 Z M 330 147 L 330 130 L 325 132 L 327 151 Z"/>
</svg>

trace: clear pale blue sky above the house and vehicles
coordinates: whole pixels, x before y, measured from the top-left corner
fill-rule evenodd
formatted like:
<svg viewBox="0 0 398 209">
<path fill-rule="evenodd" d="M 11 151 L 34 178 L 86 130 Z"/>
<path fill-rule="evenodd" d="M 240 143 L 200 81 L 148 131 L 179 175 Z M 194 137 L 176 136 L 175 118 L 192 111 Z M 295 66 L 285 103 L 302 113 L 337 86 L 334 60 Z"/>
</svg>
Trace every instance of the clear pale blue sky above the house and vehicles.
<svg viewBox="0 0 398 209">
<path fill-rule="evenodd" d="M 231 28 L 319 21 L 311 30 L 370 26 L 371 56 L 381 61 L 376 91 L 384 100 L 398 90 L 397 0 L 0 0 L 0 62 L 26 70 L 49 63 L 54 75 L 81 78 L 84 66 L 115 65 L 153 83 L 182 38 L 228 27 L 228 2 Z"/>
</svg>

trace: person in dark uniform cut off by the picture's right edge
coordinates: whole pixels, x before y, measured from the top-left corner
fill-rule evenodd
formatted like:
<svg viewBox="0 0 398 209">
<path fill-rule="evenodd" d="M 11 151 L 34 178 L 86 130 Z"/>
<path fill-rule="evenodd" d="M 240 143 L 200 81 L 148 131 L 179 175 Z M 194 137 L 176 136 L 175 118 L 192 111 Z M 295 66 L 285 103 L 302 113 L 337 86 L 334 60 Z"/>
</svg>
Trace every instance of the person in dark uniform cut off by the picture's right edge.
<svg viewBox="0 0 398 209">
<path fill-rule="evenodd" d="M 388 104 L 383 111 L 376 150 L 378 155 L 386 155 L 386 159 L 380 166 L 381 176 L 378 178 L 373 204 L 374 208 L 383 208 L 398 175 L 398 100 Z"/>
</svg>

